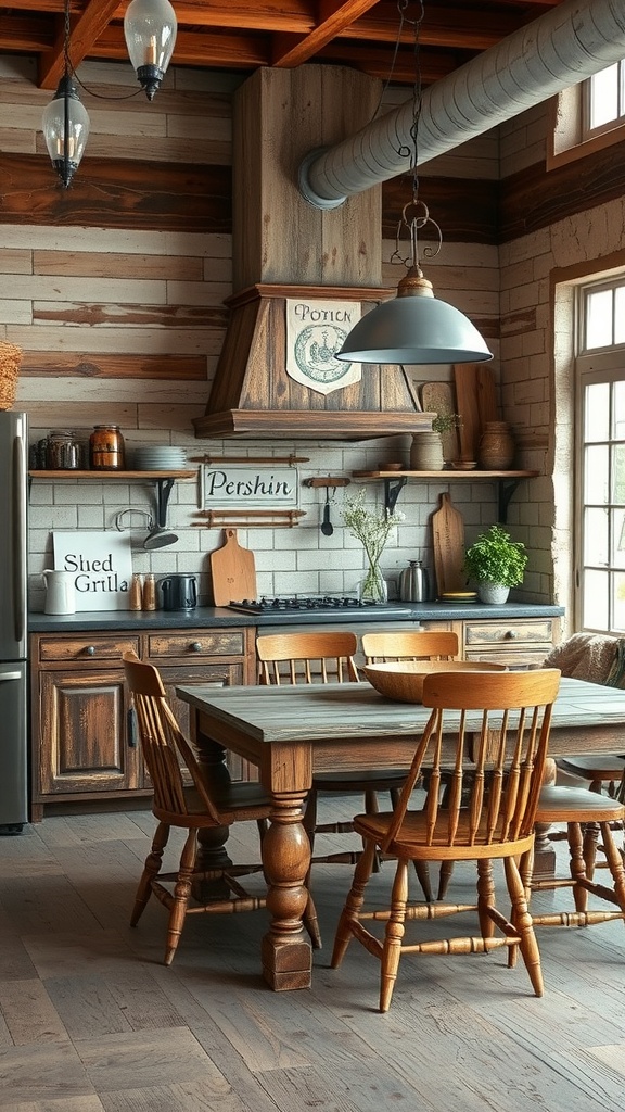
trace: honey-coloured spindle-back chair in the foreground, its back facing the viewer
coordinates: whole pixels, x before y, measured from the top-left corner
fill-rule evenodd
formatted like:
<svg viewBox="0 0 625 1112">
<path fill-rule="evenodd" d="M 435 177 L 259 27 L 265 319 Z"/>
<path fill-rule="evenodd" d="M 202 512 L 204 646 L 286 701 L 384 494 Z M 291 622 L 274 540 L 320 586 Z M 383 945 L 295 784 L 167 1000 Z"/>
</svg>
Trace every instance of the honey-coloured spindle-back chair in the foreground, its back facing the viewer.
<svg viewBox="0 0 625 1112">
<path fill-rule="evenodd" d="M 364 838 L 365 850 L 340 915 L 331 957 L 336 969 L 355 937 L 366 953 L 378 959 L 380 1012 L 390 1006 L 404 954 L 486 953 L 507 946 L 508 954 L 516 956 L 518 949 L 534 992 L 543 994 L 540 955 L 517 858 L 528 854 L 534 844 L 534 817 L 559 676 L 557 668 L 549 668 L 426 677 L 423 703 L 433 711 L 416 745 L 397 806 L 390 813 L 355 816 L 354 826 Z M 450 744 L 453 755 L 446 761 Z M 425 766 L 429 770 L 426 804 L 423 810 L 410 811 L 411 792 Z M 444 804 L 440 782 L 448 768 L 452 786 Z M 397 868 L 389 905 L 381 910 L 376 893 L 373 911 L 365 898 L 376 853 L 395 857 Z M 452 905 L 410 901 L 410 862 L 446 860 L 477 862 L 477 902 Z M 509 914 L 495 904 L 495 860 L 503 860 L 505 865 Z M 472 911 L 478 916 L 477 936 L 474 931 L 472 936 L 415 942 L 405 939 L 407 923 Z M 379 932 L 366 925 L 380 921 L 386 922 L 381 939 Z"/>
</svg>

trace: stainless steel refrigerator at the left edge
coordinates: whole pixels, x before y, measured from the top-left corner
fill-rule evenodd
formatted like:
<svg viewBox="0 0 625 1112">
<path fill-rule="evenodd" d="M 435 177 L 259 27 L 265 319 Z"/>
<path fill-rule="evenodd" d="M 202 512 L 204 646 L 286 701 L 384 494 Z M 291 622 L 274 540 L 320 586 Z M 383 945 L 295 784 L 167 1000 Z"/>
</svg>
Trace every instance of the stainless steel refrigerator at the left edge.
<svg viewBox="0 0 625 1112">
<path fill-rule="evenodd" d="M 28 417 L 0 411 L 0 835 L 28 822 Z"/>
</svg>

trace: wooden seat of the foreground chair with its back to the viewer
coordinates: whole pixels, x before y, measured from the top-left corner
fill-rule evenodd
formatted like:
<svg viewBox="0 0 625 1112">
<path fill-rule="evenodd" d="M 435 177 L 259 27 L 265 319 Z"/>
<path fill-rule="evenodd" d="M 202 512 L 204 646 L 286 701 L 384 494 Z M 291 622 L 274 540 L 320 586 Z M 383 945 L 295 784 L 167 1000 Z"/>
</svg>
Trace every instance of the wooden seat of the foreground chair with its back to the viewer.
<svg viewBox="0 0 625 1112">
<path fill-rule="evenodd" d="M 384 841 L 393 821 L 393 812 L 380 812 L 377 815 L 355 815 L 354 828 L 364 837 Z M 460 814 L 453 843 L 449 837 L 449 821 L 446 812 L 439 812 L 434 832 L 428 830 L 428 816 L 425 811 L 409 811 L 404 816 L 399 836 L 390 843 L 386 852 L 394 857 L 416 857 L 425 861 L 477 861 L 479 858 L 495 860 L 525 853 L 532 845 L 534 835 L 517 838 L 516 842 L 487 841 L 486 817 L 483 818 L 473 838 L 469 835 L 468 814 Z"/>
</svg>

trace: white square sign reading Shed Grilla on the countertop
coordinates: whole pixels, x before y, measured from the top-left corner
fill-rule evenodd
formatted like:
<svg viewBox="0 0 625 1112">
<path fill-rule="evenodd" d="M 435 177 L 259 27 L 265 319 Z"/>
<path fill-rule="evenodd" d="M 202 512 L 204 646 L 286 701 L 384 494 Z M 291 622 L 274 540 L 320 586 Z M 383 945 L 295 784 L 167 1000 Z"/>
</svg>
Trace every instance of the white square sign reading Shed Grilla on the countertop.
<svg viewBox="0 0 625 1112">
<path fill-rule="evenodd" d="M 129 534 L 54 530 L 52 542 L 54 570 L 73 573 L 77 610 L 130 608 Z"/>
</svg>

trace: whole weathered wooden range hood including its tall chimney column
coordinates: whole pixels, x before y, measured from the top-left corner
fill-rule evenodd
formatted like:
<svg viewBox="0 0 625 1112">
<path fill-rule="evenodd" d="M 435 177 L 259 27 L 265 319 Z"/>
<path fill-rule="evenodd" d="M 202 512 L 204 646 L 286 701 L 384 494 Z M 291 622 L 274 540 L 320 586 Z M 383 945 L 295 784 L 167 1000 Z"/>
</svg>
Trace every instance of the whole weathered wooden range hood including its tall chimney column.
<svg viewBox="0 0 625 1112">
<path fill-rule="evenodd" d="M 403 367 L 363 366 L 329 394 L 287 374 L 289 298 L 360 301 L 381 282 L 381 187 L 323 211 L 298 168 L 311 150 L 353 135 L 376 111 L 381 82 L 356 70 L 259 69 L 234 98 L 232 289 L 224 347 L 198 438 L 365 440 L 429 428 Z"/>
</svg>

